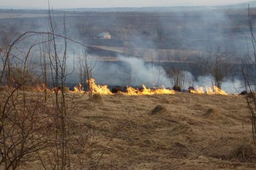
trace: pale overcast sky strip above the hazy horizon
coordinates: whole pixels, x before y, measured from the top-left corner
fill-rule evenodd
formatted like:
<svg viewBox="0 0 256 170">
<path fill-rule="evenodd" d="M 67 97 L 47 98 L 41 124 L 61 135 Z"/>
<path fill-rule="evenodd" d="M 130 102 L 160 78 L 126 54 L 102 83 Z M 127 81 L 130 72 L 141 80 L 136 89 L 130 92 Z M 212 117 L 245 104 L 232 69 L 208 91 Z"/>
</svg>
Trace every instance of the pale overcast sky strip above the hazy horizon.
<svg viewBox="0 0 256 170">
<path fill-rule="evenodd" d="M 47 0 L 0 0 L 0 6 L 47 8 Z M 50 0 L 53 8 L 222 5 L 245 0 Z"/>
</svg>

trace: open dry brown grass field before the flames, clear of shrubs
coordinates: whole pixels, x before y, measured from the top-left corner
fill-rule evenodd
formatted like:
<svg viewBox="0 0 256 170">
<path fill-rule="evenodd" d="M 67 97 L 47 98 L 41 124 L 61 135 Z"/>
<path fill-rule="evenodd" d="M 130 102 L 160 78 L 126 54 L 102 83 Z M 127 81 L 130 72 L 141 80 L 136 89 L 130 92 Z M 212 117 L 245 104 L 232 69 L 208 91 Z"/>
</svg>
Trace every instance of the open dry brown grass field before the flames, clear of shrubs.
<svg viewBox="0 0 256 170">
<path fill-rule="evenodd" d="M 85 169 L 99 159 L 98 169 L 256 168 L 243 96 L 79 95 L 77 102 L 83 109 L 73 121 L 93 133 Z M 78 161 L 79 152 L 72 150 L 71 157 Z M 35 164 L 42 166 L 31 162 L 26 169 Z"/>
</svg>

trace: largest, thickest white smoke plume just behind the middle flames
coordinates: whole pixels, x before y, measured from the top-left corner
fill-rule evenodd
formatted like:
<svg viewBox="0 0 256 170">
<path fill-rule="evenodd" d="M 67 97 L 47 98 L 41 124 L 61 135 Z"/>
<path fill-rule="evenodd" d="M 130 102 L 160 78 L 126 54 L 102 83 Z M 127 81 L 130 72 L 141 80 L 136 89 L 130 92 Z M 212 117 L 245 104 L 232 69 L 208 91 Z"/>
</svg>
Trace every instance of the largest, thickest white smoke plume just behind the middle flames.
<svg viewBox="0 0 256 170">
<path fill-rule="evenodd" d="M 119 62 L 98 62 L 93 77 L 110 86 L 171 87 L 162 66 L 146 63 L 135 57 L 118 57 Z"/>
</svg>

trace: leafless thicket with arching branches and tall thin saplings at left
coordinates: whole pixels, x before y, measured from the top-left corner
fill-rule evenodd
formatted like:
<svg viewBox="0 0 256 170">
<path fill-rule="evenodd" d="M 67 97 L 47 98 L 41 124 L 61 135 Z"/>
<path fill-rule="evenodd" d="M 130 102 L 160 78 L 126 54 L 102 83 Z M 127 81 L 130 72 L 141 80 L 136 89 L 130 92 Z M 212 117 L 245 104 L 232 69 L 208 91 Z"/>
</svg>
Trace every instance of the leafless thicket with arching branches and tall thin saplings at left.
<svg viewBox="0 0 256 170">
<path fill-rule="evenodd" d="M 63 23 L 63 34 L 58 35 L 54 15 L 49 10 L 49 31 L 17 34 L 7 41 L 1 53 L 0 86 L 4 90 L 0 91 L 0 168 L 17 169 L 35 155 L 41 159 L 40 152 L 45 149 L 50 151 L 49 157 L 54 158 L 49 160 L 51 169 L 71 168 L 69 152 L 74 142 L 70 129 L 77 127 L 72 117 L 79 107 L 74 95 L 70 96 L 66 90 L 66 79 L 74 70 L 68 71 L 67 67 L 68 41 L 82 44 L 68 38 L 65 16 Z M 19 44 L 26 44 L 23 42 L 27 39 L 37 40 L 26 48 L 18 48 Z M 60 41 L 63 47 L 58 46 Z M 54 89 L 51 94 L 45 93 L 44 99 L 40 94 L 27 91 L 27 88 L 33 88 L 33 79 L 39 77 L 36 71 L 40 69 L 31 63 L 37 50 L 42 54 L 38 68 L 41 67 L 44 73 L 43 82 Z M 10 60 L 11 57 L 15 60 Z M 49 72 L 46 71 L 48 66 Z M 10 69 L 10 74 L 6 69 Z M 51 98 L 46 103 L 49 95 Z M 42 165 L 47 169 L 44 163 Z"/>
</svg>

